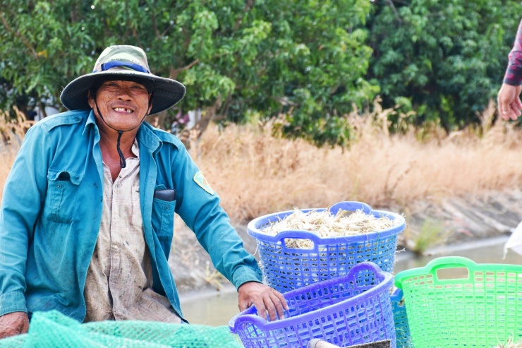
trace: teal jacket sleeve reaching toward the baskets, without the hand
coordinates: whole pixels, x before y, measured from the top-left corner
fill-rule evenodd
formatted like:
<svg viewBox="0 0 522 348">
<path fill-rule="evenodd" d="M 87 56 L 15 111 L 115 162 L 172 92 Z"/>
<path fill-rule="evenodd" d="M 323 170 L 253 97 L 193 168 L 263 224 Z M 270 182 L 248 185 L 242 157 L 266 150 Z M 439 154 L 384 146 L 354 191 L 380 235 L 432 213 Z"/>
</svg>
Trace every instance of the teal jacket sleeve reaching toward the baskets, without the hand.
<svg viewBox="0 0 522 348">
<path fill-rule="evenodd" d="M 196 183 L 194 176 L 199 169 L 183 146 L 174 160 L 172 170 L 178 191 L 176 212 L 210 254 L 214 267 L 236 289 L 245 282 L 262 282 L 257 260 L 243 248 L 243 241 L 219 205 L 219 196 L 212 190 L 212 193 L 205 191 Z"/>
</svg>

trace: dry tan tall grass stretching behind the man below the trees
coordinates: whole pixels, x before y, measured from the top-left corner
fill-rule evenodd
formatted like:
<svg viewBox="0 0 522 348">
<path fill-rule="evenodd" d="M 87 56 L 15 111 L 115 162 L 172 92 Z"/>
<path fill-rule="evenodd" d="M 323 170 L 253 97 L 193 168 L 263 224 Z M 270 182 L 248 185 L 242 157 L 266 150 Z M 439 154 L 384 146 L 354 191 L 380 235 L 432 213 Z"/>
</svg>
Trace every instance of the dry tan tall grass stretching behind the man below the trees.
<svg viewBox="0 0 522 348">
<path fill-rule="evenodd" d="M 423 200 L 521 186 L 522 133 L 503 121 L 492 124 L 494 104 L 480 115 L 482 125 L 449 136 L 437 125 L 406 124 L 401 134 L 390 135 L 388 119 L 395 111 L 378 104 L 374 109 L 346 115 L 356 136 L 347 150 L 272 136 L 272 122 L 210 126 L 190 152 L 225 210 L 239 221 L 341 200 L 411 208 Z M 18 122 L 0 123 L 0 132 L 4 137 L 23 132 L 28 124 Z M 0 188 L 18 149 L 16 143 L 8 148 L 0 152 Z"/>
</svg>

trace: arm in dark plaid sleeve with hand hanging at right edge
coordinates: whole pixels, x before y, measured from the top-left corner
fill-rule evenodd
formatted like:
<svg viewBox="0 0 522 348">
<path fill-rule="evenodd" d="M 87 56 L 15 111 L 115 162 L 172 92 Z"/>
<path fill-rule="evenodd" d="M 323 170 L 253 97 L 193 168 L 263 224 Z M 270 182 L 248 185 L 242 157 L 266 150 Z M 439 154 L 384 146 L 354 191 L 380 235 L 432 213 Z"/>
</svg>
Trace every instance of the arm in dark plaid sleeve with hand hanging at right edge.
<svg viewBox="0 0 522 348">
<path fill-rule="evenodd" d="M 497 102 L 500 116 L 505 119 L 517 119 L 522 115 L 520 100 L 522 84 L 522 20 L 518 25 L 513 49 L 509 52 L 509 64 L 504 75 L 504 83 L 499 90 Z"/>
</svg>

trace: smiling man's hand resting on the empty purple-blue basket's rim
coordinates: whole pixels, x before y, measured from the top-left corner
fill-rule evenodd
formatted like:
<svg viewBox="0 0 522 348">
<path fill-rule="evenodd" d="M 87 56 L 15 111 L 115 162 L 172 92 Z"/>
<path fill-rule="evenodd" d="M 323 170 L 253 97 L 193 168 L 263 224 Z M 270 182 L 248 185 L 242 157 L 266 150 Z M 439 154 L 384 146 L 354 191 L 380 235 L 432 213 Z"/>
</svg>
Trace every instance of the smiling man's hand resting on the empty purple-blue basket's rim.
<svg viewBox="0 0 522 348">
<path fill-rule="evenodd" d="M 258 282 L 241 284 L 241 287 L 238 289 L 238 301 L 239 311 L 244 311 L 246 308 L 254 305 L 259 316 L 266 318 L 266 313 L 268 312 L 268 316 L 272 321 L 278 317 L 280 319 L 284 318 L 284 310 L 289 310 L 289 306 L 280 292 Z"/>
</svg>

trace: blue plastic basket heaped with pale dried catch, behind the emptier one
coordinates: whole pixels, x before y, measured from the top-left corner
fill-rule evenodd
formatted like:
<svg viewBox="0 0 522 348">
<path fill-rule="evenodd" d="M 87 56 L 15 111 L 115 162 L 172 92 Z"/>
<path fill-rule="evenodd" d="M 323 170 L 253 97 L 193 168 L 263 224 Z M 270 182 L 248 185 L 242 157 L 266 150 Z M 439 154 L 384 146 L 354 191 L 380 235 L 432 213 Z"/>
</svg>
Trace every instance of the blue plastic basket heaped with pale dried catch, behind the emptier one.
<svg viewBox="0 0 522 348">
<path fill-rule="evenodd" d="M 332 214 L 338 210 L 363 210 L 375 217 L 386 216 L 396 224 L 378 232 L 358 236 L 321 238 L 309 231 L 291 230 L 271 236 L 262 232 L 274 222 L 291 215 L 295 210 L 278 212 L 257 217 L 248 224 L 248 234 L 257 241 L 257 250 L 265 278 L 265 283 L 284 293 L 308 284 L 346 275 L 348 271 L 364 261 L 371 261 L 386 272 L 393 272 L 397 235 L 406 228 L 401 215 L 380 210 L 372 210 L 360 202 L 341 202 L 330 208 Z M 302 212 L 322 209 L 305 209 Z M 310 249 L 288 248 L 285 239 L 309 239 Z"/>
</svg>

